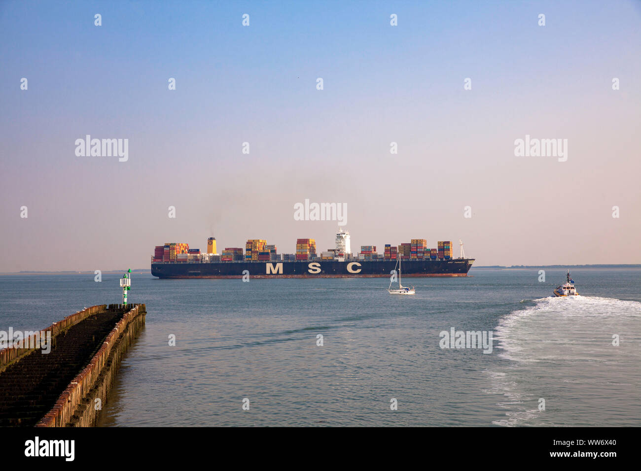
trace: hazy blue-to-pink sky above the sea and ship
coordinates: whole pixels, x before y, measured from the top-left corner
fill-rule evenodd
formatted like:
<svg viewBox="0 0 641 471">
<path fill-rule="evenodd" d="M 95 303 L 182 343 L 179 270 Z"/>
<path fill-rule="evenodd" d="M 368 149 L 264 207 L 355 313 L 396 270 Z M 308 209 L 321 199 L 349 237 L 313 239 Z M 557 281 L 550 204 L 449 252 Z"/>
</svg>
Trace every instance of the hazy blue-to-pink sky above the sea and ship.
<svg viewBox="0 0 641 471">
<path fill-rule="evenodd" d="M 334 247 L 305 199 L 347 204 L 354 252 L 641 263 L 638 2 L 16 1 L 0 39 L 0 272 L 148 268 L 208 236 Z M 76 156 L 85 135 L 128 161 Z M 526 135 L 567 161 L 515 156 Z"/>
</svg>

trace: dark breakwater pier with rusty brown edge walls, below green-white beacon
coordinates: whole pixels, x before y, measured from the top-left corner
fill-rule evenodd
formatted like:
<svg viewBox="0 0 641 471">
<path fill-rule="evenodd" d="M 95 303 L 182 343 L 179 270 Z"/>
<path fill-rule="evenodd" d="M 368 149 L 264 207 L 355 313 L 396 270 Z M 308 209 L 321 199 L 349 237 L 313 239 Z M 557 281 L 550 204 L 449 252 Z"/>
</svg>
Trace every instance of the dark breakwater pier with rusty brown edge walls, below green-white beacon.
<svg viewBox="0 0 641 471">
<path fill-rule="evenodd" d="M 47 354 L 29 339 L 0 351 L 0 426 L 94 426 L 146 313 L 144 304 L 92 306 L 45 329 Z"/>
</svg>

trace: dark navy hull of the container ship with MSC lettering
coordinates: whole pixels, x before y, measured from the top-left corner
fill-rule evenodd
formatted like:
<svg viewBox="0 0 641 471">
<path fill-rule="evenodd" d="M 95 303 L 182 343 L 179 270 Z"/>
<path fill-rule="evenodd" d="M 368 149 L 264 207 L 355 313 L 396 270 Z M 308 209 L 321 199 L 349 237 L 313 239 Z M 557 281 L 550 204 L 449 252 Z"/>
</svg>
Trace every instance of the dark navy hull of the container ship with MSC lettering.
<svg viewBox="0 0 641 471">
<path fill-rule="evenodd" d="M 402 276 L 467 276 L 473 258 L 453 260 L 404 260 Z M 387 277 L 396 266 L 392 261 L 272 261 L 214 263 L 152 263 L 151 274 L 159 278 L 347 278 Z"/>
</svg>

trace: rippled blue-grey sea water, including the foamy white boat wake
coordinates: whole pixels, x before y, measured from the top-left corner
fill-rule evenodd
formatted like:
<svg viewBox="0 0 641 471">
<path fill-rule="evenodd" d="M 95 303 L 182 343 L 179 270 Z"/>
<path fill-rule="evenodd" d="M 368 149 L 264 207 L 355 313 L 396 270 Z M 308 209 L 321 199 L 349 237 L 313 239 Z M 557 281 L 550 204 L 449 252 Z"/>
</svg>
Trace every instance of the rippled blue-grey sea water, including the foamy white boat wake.
<svg viewBox="0 0 641 471">
<path fill-rule="evenodd" d="M 641 270 L 573 270 L 574 298 L 549 297 L 562 270 L 546 283 L 538 270 L 470 275 L 407 278 L 417 294 L 400 297 L 383 278 L 133 274 L 129 302 L 147 304 L 146 327 L 100 423 L 641 426 Z M 0 276 L 0 329 L 120 302 L 119 277 Z M 441 349 L 451 327 L 492 331 L 492 353 Z"/>
</svg>

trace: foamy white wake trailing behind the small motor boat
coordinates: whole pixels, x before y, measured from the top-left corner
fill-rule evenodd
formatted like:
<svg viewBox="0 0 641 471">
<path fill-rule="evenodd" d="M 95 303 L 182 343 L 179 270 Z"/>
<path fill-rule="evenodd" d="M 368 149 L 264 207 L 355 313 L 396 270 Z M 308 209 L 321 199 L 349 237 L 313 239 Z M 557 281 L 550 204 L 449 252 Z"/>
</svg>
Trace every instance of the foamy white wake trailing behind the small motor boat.
<svg viewBox="0 0 641 471">
<path fill-rule="evenodd" d="M 498 356 L 508 361 L 487 371 L 488 392 L 501 395 L 497 405 L 506 409 L 506 417 L 492 423 L 579 425 L 558 413 L 546 414 L 540 400 L 548 408 L 553 401 L 558 412 L 581 401 L 603 410 L 612 407 L 613 398 L 634 396 L 641 386 L 635 366 L 641 361 L 640 318 L 637 301 L 581 295 L 522 301 L 494 331 Z"/>
</svg>

